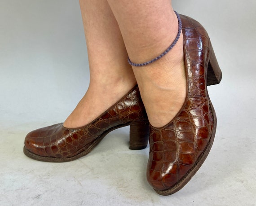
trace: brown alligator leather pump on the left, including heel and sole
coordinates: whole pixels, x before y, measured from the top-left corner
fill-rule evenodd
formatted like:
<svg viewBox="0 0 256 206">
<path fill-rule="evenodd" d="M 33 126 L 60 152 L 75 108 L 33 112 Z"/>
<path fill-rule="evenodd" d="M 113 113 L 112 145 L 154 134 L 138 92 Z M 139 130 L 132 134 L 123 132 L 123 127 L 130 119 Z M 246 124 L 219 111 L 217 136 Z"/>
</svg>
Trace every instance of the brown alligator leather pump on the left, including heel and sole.
<svg viewBox="0 0 256 206">
<path fill-rule="evenodd" d="M 80 128 L 63 123 L 31 131 L 25 138 L 24 153 L 44 162 L 67 162 L 90 152 L 110 131 L 130 125 L 130 149 L 144 149 L 149 123 L 137 86 L 94 121 Z"/>
</svg>

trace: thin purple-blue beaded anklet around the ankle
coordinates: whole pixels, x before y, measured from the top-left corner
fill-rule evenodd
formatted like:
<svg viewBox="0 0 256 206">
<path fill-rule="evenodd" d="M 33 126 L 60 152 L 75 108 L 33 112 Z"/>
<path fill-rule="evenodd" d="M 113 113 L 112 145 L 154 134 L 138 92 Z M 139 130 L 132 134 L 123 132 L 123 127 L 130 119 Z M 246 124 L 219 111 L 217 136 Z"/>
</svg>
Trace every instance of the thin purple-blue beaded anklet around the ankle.
<svg viewBox="0 0 256 206">
<path fill-rule="evenodd" d="M 128 63 L 132 66 L 145 66 L 145 65 L 148 65 L 158 59 L 160 59 L 161 57 L 163 57 L 165 54 L 167 54 L 173 47 L 174 45 L 177 43 L 178 39 L 180 38 L 180 35 L 181 35 L 181 27 L 182 27 L 182 23 L 181 23 L 181 18 L 180 18 L 180 15 L 174 11 L 177 15 L 177 18 L 178 18 L 178 23 L 179 23 L 179 30 L 178 30 L 178 34 L 176 36 L 176 38 L 174 39 L 174 41 L 172 42 L 172 44 L 163 52 L 161 53 L 158 57 L 155 57 L 154 59 L 150 60 L 150 61 L 146 61 L 144 63 L 140 63 L 140 64 L 137 64 L 137 63 L 133 63 L 130 58 L 128 57 Z"/>
</svg>

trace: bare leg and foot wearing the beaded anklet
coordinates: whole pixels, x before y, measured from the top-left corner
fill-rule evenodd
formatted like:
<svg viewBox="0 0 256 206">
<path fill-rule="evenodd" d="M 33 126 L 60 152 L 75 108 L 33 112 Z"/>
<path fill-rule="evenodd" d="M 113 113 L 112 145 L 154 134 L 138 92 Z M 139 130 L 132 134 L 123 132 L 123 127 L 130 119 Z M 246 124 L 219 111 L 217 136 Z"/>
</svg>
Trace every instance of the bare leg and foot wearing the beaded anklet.
<svg viewBox="0 0 256 206">
<path fill-rule="evenodd" d="M 108 0 L 124 38 L 130 60 L 150 61 L 172 44 L 178 32 L 170 0 Z M 134 67 L 149 121 L 167 124 L 181 109 L 186 96 L 183 36 L 164 57 Z"/>
</svg>

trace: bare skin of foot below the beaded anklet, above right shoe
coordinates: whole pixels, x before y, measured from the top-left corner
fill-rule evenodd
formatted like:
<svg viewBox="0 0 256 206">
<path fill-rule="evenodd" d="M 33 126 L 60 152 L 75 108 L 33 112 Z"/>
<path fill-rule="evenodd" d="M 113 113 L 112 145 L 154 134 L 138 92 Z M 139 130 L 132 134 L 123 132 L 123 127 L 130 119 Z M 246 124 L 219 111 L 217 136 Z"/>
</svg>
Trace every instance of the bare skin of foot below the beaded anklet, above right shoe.
<svg viewBox="0 0 256 206">
<path fill-rule="evenodd" d="M 100 116 L 136 85 L 132 70 L 125 75 L 99 74 L 91 80 L 89 88 L 64 122 L 64 127 L 83 127 Z"/>
</svg>

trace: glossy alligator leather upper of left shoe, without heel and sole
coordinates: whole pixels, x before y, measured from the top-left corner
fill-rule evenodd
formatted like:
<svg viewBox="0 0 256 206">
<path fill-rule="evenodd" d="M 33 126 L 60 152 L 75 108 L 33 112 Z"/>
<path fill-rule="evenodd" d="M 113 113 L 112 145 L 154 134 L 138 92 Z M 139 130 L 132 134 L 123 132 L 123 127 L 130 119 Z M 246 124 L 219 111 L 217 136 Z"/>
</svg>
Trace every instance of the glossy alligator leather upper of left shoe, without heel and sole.
<svg viewBox="0 0 256 206">
<path fill-rule="evenodd" d="M 144 120 L 147 120 L 147 115 L 136 86 L 116 105 L 84 127 L 69 129 L 59 123 L 31 131 L 25 138 L 25 149 L 41 157 L 70 158 L 87 150 L 111 128 Z"/>
</svg>

